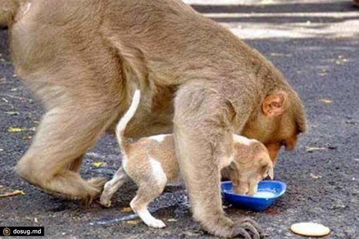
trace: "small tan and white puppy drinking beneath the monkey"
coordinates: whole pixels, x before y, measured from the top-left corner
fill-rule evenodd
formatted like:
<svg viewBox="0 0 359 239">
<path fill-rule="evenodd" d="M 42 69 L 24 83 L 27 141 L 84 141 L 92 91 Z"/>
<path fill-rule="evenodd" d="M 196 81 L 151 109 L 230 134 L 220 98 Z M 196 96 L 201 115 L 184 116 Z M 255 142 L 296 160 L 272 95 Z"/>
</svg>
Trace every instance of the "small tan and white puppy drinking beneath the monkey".
<svg viewBox="0 0 359 239">
<path fill-rule="evenodd" d="M 123 154 L 123 165 L 105 184 L 100 203 L 109 207 L 113 193 L 131 179 L 138 186 L 137 194 L 130 203 L 132 210 L 149 227 L 163 228 L 166 225 L 154 218 L 147 206 L 168 183 L 180 180 L 179 165 L 172 134 L 144 137 L 132 144 L 126 142 L 125 128 L 138 107 L 139 98 L 140 92 L 136 90 L 130 108 L 117 125 L 116 137 Z M 253 195 L 263 178 L 273 178 L 273 164 L 266 147 L 239 135 L 233 135 L 231 162 L 221 162 L 220 165 L 224 167 L 224 176 L 233 182 L 233 190 L 240 194 Z"/>
</svg>

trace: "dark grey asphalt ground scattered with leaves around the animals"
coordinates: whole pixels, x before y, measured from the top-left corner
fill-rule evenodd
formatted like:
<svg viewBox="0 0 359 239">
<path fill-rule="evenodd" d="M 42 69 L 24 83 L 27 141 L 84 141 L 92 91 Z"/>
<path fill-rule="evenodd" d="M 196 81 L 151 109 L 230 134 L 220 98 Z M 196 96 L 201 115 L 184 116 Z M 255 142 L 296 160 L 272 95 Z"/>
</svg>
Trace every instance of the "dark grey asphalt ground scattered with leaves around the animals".
<svg viewBox="0 0 359 239">
<path fill-rule="evenodd" d="M 297 148 L 279 155 L 275 179 L 288 185 L 283 197 L 265 212 L 225 203 L 226 212 L 231 217 L 251 216 L 269 238 L 301 238 L 289 228 L 306 221 L 330 227 L 327 238 L 359 238 L 359 9 L 350 1 L 195 2 L 195 9 L 230 27 L 283 71 L 301 95 L 309 119 L 310 130 Z M 104 209 L 96 203 L 85 208 L 54 198 L 19 178 L 13 167 L 30 146 L 43 108 L 14 75 L 7 46 L 3 29 L 0 192 L 24 194 L 0 197 L 0 226 L 45 226 L 46 238 L 208 236 L 192 221 L 181 185 L 166 188 L 151 205 L 167 227 L 150 229 L 129 211 L 135 194 L 131 183 L 117 192 L 111 208 Z M 116 142 L 107 135 L 86 155 L 82 174 L 111 178 L 120 165 Z"/>
</svg>

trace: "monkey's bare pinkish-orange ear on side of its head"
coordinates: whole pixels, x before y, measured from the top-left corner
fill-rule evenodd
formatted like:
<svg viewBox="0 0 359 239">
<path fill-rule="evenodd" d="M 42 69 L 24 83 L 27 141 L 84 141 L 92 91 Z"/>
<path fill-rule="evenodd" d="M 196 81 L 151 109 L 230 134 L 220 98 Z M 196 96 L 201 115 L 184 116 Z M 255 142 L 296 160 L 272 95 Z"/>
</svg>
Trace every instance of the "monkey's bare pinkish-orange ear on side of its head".
<svg viewBox="0 0 359 239">
<path fill-rule="evenodd" d="M 285 111 L 286 99 L 287 94 L 283 91 L 267 96 L 262 105 L 263 114 L 266 117 L 276 117 L 282 115 Z"/>
</svg>

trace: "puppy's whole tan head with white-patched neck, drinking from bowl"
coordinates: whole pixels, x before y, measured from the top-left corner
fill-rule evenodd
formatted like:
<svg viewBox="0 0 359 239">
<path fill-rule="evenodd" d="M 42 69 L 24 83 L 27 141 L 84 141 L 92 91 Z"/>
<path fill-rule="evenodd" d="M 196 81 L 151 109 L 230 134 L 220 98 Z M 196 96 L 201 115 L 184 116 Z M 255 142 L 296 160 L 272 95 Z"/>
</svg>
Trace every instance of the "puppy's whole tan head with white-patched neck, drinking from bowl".
<svg viewBox="0 0 359 239">
<path fill-rule="evenodd" d="M 274 178 L 273 163 L 267 148 L 260 142 L 234 142 L 234 160 L 229 166 L 233 191 L 237 194 L 254 195 L 257 185 L 264 178 Z"/>
</svg>

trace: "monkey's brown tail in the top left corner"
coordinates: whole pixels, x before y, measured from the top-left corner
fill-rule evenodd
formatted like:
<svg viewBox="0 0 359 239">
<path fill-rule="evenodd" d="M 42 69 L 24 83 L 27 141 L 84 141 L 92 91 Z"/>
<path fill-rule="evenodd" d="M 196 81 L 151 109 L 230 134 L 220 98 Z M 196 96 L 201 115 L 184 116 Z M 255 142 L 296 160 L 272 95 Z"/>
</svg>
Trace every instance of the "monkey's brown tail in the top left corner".
<svg viewBox="0 0 359 239">
<path fill-rule="evenodd" d="M 0 0 L 0 27 L 8 27 L 14 22 L 21 0 Z"/>
</svg>

